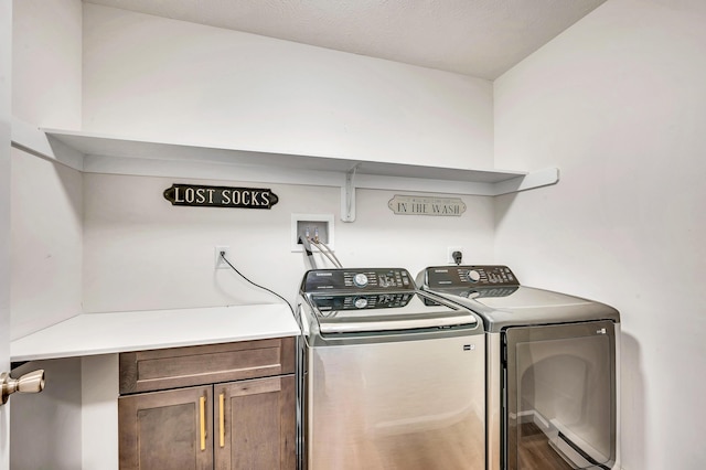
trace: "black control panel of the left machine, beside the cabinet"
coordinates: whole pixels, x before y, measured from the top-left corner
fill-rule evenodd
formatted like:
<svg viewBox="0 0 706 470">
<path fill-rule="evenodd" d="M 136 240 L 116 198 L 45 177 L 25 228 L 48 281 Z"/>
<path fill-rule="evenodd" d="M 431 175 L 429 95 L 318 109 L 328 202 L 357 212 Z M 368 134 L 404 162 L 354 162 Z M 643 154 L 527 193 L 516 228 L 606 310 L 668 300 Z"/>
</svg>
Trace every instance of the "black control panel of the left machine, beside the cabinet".
<svg viewBox="0 0 706 470">
<path fill-rule="evenodd" d="M 313 269 L 301 286 L 303 292 L 415 289 L 409 273 L 400 268 Z"/>
</svg>

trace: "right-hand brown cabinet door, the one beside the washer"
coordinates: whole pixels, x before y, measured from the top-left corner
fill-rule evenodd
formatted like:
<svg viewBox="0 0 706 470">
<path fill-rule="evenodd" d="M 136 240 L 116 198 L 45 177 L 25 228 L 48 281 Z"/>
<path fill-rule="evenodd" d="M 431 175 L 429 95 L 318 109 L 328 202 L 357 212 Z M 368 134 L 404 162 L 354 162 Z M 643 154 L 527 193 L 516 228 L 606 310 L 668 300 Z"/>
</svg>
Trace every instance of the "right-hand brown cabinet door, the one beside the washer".
<svg viewBox="0 0 706 470">
<path fill-rule="evenodd" d="M 214 385 L 215 468 L 296 468 L 295 376 Z"/>
</svg>

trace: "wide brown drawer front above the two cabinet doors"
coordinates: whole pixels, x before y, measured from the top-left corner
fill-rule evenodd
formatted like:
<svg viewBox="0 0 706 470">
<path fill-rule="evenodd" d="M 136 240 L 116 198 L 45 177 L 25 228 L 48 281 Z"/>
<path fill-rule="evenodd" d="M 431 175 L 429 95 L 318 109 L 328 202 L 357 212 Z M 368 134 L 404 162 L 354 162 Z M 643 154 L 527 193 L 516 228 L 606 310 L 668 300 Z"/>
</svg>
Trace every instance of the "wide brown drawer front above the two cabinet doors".
<svg viewBox="0 0 706 470">
<path fill-rule="evenodd" d="M 295 338 L 120 354 L 120 394 L 295 372 Z"/>
</svg>

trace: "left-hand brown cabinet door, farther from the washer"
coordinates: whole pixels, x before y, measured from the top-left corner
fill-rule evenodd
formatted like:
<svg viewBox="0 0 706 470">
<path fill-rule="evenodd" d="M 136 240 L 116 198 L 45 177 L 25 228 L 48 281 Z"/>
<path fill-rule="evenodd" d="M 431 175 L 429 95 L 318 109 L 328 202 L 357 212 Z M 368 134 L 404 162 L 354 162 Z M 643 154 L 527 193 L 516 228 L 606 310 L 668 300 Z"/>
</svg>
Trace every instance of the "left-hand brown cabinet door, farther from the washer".
<svg viewBox="0 0 706 470">
<path fill-rule="evenodd" d="M 120 470 L 213 468 L 211 386 L 118 398 Z"/>
</svg>

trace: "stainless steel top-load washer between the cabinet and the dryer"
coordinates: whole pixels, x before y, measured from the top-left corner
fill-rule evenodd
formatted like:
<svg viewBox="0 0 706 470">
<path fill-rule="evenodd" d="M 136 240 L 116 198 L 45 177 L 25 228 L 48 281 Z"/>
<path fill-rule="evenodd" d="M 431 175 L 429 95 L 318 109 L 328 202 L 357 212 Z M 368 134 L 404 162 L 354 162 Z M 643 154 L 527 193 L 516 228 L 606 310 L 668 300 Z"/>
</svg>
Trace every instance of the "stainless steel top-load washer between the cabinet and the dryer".
<svg viewBox="0 0 706 470">
<path fill-rule="evenodd" d="M 308 271 L 297 310 L 301 468 L 485 468 L 474 313 L 397 268 Z"/>
</svg>

